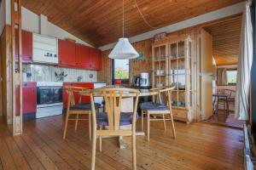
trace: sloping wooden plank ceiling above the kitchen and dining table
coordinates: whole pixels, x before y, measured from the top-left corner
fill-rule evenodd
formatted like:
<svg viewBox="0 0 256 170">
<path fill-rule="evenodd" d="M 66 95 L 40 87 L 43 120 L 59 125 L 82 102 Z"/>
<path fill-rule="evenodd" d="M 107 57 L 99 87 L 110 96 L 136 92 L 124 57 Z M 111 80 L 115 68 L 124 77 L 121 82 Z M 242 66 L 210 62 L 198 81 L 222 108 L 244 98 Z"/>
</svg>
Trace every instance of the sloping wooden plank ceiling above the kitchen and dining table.
<svg viewBox="0 0 256 170">
<path fill-rule="evenodd" d="M 224 8 L 243 0 L 137 0 L 146 20 L 157 27 Z M 23 6 L 44 14 L 56 26 L 96 47 L 122 36 L 122 0 L 22 0 Z M 125 37 L 152 31 L 137 11 L 134 0 L 125 0 Z"/>
</svg>

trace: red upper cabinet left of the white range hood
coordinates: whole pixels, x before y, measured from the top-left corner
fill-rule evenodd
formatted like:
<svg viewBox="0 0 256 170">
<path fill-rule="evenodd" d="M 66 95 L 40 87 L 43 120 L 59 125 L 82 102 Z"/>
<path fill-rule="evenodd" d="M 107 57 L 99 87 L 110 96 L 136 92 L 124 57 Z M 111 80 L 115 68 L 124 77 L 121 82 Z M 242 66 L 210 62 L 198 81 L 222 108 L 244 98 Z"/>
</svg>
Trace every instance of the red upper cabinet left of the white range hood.
<svg viewBox="0 0 256 170">
<path fill-rule="evenodd" d="M 18 59 L 18 30 L 15 30 L 15 57 Z M 32 32 L 22 31 L 22 62 L 32 63 Z"/>
</svg>

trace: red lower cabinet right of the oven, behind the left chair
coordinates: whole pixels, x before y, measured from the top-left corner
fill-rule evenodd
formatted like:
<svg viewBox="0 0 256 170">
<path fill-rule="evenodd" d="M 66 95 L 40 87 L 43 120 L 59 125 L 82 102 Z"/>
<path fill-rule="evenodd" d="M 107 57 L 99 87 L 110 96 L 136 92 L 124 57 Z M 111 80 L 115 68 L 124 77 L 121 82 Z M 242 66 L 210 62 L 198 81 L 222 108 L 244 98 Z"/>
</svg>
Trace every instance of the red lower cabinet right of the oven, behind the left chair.
<svg viewBox="0 0 256 170">
<path fill-rule="evenodd" d="M 62 92 L 62 101 L 63 101 L 63 108 L 67 109 L 67 91 L 65 88 L 68 86 L 73 86 L 73 87 L 81 87 L 81 88 L 90 88 L 93 89 L 93 83 L 92 82 L 63 82 L 63 92 Z M 74 94 L 74 99 L 75 102 L 79 102 L 79 94 Z M 83 96 L 82 97 L 82 102 L 83 103 L 90 103 L 90 97 L 89 96 Z"/>
</svg>

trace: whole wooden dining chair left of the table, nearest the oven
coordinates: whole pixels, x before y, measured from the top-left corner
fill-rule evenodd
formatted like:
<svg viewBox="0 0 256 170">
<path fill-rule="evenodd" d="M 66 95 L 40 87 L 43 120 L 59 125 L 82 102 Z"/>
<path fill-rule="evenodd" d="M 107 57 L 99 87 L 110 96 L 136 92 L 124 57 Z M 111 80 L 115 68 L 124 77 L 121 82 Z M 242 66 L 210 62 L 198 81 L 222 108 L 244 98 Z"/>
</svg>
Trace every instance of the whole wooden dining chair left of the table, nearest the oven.
<svg viewBox="0 0 256 170">
<path fill-rule="evenodd" d="M 81 103 L 82 95 L 80 93 L 88 93 L 90 95 L 90 89 L 80 88 L 80 87 L 67 87 L 67 113 L 66 113 L 66 121 L 63 133 L 63 139 L 66 139 L 67 133 L 67 123 L 68 121 L 75 121 L 75 131 L 78 128 L 79 121 L 88 121 L 89 122 L 89 139 L 91 140 L 91 105 L 90 103 Z M 76 103 L 75 95 L 79 95 L 79 101 Z M 96 108 L 98 109 L 101 105 L 96 104 Z M 75 118 L 71 118 L 70 116 L 76 116 Z M 88 115 L 88 119 L 79 118 L 80 115 Z"/>
</svg>

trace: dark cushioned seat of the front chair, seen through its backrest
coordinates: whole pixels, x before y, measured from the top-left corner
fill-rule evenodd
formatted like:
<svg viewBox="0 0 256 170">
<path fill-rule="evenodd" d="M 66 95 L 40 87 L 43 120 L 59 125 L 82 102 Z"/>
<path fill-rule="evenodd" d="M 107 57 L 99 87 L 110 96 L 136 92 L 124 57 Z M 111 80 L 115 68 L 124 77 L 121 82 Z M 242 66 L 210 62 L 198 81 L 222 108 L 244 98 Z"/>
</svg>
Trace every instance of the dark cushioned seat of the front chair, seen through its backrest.
<svg viewBox="0 0 256 170">
<path fill-rule="evenodd" d="M 121 112 L 120 116 L 120 126 L 131 125 L 132 124 L 132 112 Z M 138 114 L 136 114 L 136 119 Z M 108 113 L 107 112 L 97 112 L 96 122 L 102 126 L 108 126 Z"/>
</svg>

